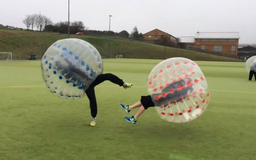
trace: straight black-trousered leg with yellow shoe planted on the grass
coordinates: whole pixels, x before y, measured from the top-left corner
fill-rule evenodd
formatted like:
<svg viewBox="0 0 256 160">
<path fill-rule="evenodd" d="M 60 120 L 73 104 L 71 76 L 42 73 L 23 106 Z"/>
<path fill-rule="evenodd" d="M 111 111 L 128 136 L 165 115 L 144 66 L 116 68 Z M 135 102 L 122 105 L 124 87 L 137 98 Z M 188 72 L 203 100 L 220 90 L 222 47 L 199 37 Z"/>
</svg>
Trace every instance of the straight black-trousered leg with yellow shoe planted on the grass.
<svg viewBox="0 0 256 160">
<path fill-rule="evenodd" d="M 94 87 L 89 87 L 85 93 L 86 93 L 88 99 L 90 100 L 90 109 L 91 109 L 91 115 L 92 115 L 92 122 L 90 125 L 95 126 L 96 125 L 96 116 L 97 116 L 97 100 L 96 100 L 96 96 L 95 96 Z"/>
</svg>

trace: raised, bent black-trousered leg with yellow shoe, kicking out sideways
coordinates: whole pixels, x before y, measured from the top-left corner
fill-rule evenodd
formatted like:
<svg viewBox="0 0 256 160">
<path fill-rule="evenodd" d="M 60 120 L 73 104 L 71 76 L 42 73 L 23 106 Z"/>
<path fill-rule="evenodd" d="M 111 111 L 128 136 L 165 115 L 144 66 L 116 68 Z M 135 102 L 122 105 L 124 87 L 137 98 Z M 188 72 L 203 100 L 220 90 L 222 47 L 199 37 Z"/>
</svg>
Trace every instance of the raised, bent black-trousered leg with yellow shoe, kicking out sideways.
<svg viewBox="0 0 256 160">
<path fill-rule="evenodd" d="M 104 81 L 111 81 L 111 83 L 115 83 L 115 84 L 118 84 L 119 86 L 123 86 L 125 89 L 131 88 L 131 86 L 132 86 L 131 83 L 125 83 L 122 79 L 115 76 L 114 74 L 100 74 L 100 76 L 98 76 L 95 79 L 95 81 L 93 81 L 93 85 L 97 86 L 98 84 L 100 84 Z"/>
</svg>

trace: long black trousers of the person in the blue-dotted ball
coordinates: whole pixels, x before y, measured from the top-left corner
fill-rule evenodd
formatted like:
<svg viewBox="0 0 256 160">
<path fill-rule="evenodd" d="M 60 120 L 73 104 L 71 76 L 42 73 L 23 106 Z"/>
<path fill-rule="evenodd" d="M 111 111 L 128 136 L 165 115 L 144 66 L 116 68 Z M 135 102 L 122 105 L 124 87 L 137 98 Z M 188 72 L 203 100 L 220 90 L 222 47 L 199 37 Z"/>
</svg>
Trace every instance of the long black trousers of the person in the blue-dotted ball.
<svg viewBox="0 0 256 160">
<path fill-rule="evenodd" d="M 89 88 L 86 90 L 86 95 L 88 99 L 90 100 L 90 109 L 91 109 L 91 115 L 93 118 L 97 115 L 97 100 L 95 97 L 95 91 L 94 87 L 98 84 L 104 82 L 104 81 L 111 81 L 111 83 L 118 84 L 119 86 L 123 86 L 124 81 L 120 79 L 119 77 L 113 75 L 113 74 L 100 74 L 95 81 L 89 86 Z"/>
</svg>

